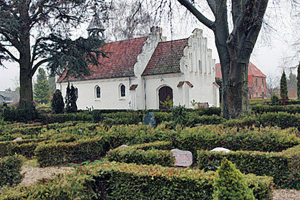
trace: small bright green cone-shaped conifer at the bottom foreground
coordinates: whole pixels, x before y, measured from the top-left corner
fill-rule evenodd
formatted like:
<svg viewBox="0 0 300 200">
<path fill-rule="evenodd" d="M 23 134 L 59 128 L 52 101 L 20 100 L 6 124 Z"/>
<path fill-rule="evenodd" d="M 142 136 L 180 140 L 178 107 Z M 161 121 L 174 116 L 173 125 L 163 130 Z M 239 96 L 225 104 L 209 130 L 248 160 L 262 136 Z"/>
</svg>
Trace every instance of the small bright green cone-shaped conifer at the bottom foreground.
<svg viewBox="0 0 300 200">
<path fill-rule="evenodd" d="M 244 175 L 226 158 L 222 160 L 214 177 L 214 200 L 223 199 L 255 199 L 253 191 L 246 185 Z"/>
</svg>

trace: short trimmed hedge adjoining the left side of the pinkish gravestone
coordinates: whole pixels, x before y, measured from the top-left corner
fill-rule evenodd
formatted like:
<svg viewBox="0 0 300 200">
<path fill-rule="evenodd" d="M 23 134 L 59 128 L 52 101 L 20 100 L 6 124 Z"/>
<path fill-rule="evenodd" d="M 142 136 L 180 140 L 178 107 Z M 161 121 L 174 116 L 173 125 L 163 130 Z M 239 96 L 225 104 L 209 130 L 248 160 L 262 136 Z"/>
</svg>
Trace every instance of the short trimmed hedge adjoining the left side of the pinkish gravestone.
<svg viewBox="0 0 300 200">
<path fill-rule="evenodd" d="M 136 163 L 136 164 L 159 164 L 161 166 L 174 166 L 175 158 L 170 152 L 171 142 L 152 142 L 143 145 L 113 149 L 108 151 L 106 158 L 109 161 Z M 164 151 L 162 149 L 168 149 Z"/>
</svg>

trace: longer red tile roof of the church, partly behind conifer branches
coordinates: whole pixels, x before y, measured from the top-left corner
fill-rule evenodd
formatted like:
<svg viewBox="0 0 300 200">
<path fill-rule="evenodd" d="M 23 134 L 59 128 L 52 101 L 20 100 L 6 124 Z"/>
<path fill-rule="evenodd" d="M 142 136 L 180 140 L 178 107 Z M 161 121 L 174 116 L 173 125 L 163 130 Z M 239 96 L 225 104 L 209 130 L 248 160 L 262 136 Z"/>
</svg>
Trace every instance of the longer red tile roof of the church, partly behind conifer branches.
<svg viewBox="0 0 300 200">
<path fill-rule="evenodd" d="M 100 57 L 99 66 L 90 65 L 91 75 L 76 79 L 73 77 L 65 77 L 62 74 L 58 82 L 82 81 L 89 79 L 106 79 L 115 77 L 130 77 L 134 74 L 134 65 L 137 62 L 137 55 L 141 53 L 144 42 L 147 37 L 135 38 L 132 40 L 123 40 L 119 42 L 108 43 L 103 50 L 109 52 L 108 58 Z"/>
</svg>

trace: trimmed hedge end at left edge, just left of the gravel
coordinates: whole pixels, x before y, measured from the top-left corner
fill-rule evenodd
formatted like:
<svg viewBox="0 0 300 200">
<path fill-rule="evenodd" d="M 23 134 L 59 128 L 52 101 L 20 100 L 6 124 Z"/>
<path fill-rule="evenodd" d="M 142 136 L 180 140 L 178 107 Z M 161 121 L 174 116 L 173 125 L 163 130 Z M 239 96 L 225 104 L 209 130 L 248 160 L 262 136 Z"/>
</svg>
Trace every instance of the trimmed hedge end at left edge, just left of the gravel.
<svg viewBox="0 0 300 200">
<path fill-rule="evenodd" d="M 23 158 L 20 155 L 0 158 L 0 187 L 19 184 L 23 179 L 21 166 Z"/>
</svg>

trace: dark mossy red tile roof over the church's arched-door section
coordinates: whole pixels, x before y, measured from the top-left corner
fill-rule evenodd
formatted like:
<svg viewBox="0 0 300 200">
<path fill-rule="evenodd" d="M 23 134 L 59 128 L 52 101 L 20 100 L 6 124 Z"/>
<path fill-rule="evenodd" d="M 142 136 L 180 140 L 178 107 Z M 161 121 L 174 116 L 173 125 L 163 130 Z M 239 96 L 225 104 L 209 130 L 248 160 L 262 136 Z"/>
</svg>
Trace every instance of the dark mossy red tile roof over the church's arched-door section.
<svg viewBox="0 0 300 200">
<path fill-rule="evenodd" d="M 142 75 L 180 73 L 180 60 L 188 40 L 159 42 Z"/>
</svg>

